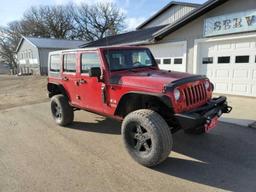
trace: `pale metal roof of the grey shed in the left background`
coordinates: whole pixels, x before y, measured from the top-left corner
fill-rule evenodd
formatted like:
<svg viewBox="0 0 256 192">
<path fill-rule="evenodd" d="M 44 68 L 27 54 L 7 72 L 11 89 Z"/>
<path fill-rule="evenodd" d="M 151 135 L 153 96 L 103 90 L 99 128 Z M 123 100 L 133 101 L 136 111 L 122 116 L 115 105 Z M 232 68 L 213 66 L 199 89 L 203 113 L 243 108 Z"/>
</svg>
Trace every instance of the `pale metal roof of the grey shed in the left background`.
<svg viewBox="0 0 256 192">
<path fill-rule="evenodd" d="M 74 49 L 86 43 L 86 41 L 67 40 L 67 39 L 53 39 L 40 37 L 22 37 L 16 52 L 19 50 L 22 42 L 27 40 L 33 46 L 44 49 Z"/>
</svg>

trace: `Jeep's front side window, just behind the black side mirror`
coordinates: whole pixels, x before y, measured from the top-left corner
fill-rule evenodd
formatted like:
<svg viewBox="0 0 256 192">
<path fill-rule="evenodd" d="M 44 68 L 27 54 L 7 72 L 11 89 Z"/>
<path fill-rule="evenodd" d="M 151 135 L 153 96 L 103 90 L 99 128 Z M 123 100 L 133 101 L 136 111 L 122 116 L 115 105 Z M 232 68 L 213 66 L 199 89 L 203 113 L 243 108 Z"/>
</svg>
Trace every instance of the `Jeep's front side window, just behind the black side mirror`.
<svg viewBox="0 0 256 192">
<path fill-rule="evenodd" d="M 83 53 L 81 55 L 81 73 L 88 73 L 92 67 L 100 67 L 97 53 Z"/>
</svg>

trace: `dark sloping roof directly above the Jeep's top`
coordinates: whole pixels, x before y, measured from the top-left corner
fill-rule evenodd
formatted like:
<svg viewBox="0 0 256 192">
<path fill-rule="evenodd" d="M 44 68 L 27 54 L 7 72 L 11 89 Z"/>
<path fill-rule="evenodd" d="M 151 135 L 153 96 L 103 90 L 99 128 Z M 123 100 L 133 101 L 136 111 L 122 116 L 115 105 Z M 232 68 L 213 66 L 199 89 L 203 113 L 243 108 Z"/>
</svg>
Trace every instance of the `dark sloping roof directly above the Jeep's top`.
<svg viewBox="0 0 256 192">
<path fill-rule="evenodd" d="M 153 38 L 153 34 L 160 29 L 164 28 L 166 25 L 141 29 L 136 31 L 131 31 L 128 33 L 122 33 L 119 35 L 105 37 L 97 41 L 93 41 L 87 44 L 84 44 L 80 47 L 102 47 L 102 46 L 112 46 L 112 45 L 135 45 L 135 44 L 145 44 L 149 43 Z"/>
</svg>

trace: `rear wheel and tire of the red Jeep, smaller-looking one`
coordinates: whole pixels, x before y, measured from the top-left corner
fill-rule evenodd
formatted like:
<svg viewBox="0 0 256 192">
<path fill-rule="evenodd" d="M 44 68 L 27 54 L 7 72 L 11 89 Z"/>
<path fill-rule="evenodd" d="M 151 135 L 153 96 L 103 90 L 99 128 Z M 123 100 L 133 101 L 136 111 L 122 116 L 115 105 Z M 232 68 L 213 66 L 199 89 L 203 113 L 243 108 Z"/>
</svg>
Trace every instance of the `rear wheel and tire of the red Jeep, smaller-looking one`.
<svg viewBox="0 0 256 192">
<path fill-rule="evenodd" d="M 51 98 L 51 112 L 55 122 L 60 126 L 69 125 L 74 120 L 74 110 L 64 95 L 55 95 Z"/>
</svg>

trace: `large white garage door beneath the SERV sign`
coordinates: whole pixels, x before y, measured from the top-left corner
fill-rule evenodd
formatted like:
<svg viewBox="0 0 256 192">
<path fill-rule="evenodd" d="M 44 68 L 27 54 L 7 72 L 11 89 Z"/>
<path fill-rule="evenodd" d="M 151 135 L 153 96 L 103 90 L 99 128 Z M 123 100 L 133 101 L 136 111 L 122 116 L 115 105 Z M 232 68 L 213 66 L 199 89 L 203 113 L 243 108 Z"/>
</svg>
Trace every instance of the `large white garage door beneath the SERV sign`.
<svg viewBox="0 0 256 192">
<path fill-rule="evenodd" d="M 216 93 L 256 96 L 256 38 L 200 43 L 198 63 Z"/>
</svg>

